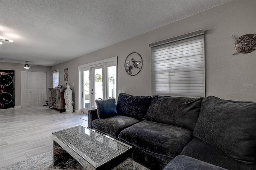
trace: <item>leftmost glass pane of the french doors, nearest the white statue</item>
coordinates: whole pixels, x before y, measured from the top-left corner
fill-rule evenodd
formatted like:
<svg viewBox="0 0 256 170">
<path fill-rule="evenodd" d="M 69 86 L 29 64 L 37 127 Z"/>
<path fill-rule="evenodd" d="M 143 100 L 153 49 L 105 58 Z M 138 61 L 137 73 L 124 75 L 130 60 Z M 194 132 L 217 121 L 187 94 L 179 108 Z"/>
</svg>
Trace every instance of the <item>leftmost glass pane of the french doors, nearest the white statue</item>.
<svg viewBox="0 0 256 170">
<path fill-rule="evenodd" d="M 84 81 L 84 108 L 90 109 L 90 71 L 86 70 L 83 72 Z"/>
</svg>

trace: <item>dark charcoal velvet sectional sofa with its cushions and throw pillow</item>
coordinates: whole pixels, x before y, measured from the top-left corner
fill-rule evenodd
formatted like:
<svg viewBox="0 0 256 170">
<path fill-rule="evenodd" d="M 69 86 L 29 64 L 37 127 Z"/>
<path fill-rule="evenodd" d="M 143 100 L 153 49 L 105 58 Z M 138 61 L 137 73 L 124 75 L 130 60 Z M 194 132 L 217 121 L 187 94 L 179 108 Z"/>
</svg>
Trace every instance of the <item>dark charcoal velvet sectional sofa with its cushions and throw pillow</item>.
<svg viewBox="0 0 256 170">
<path fill-rule="evenodd" d="M 88 126 L 131 145 L 134 160 L 152 170 L 191 158 L 186 169 L 195 160 L 213 169 L 256 169 L 256 102 L 120 93 L 117 103 L 96 103 Z"/>
</svg>

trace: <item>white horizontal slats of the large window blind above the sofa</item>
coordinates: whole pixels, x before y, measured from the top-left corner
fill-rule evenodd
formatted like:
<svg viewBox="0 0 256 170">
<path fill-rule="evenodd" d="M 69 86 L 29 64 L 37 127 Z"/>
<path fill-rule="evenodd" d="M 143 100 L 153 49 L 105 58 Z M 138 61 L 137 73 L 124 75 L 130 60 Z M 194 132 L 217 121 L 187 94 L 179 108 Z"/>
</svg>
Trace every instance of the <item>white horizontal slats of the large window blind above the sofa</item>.
<svg viewBox="0 0 256 170">
<path fill-rule="evenodd" d="M 204 35 L 151 48 L 152 95 L 204 97 Z"/>
</svg>

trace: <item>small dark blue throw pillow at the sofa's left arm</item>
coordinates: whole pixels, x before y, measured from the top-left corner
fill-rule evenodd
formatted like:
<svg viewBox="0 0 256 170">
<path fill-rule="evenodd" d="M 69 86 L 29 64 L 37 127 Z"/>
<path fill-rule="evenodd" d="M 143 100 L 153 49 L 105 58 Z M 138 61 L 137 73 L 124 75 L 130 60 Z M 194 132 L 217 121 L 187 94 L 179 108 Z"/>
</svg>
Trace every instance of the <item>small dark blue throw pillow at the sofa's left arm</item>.
<svg viewBox="0 0 256 170">
<path fill-rule="evenodd" d="M 100 119 L 116 116 L 116 100 L 114 98 L 107 100 L 96 100 L 97 113 Z"/>
</svg>

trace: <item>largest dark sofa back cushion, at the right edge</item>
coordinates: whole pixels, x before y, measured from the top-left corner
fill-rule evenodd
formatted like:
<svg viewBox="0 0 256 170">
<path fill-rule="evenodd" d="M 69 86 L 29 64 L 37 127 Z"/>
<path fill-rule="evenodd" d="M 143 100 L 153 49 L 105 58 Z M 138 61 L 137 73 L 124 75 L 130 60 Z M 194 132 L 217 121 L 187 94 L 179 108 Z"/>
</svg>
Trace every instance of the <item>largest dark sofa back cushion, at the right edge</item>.
<svg viewBox="0 0 256 170">
<path fill-rule="evenodd" d="M 256 102 L 205 98 L 193 135 L 237 161 L 256 163 Z"/>
</svg>

